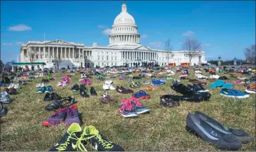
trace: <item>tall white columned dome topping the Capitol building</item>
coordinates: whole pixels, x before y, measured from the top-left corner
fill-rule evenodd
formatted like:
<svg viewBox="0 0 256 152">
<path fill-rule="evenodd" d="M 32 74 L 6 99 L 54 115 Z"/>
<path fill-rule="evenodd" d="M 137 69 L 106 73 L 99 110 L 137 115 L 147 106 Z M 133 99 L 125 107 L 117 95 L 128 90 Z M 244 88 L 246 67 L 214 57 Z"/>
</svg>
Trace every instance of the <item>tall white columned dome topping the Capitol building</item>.
<svg viewBox="0 0 256 152">
<path fill-rule="evenodd" d="M 127 5 L 123 1 L 121 12 L 114 19 L 109 34 L 108 46 L 139 46 L 140 34 L 135 19 L 127 12 Z"/>
</svg>

